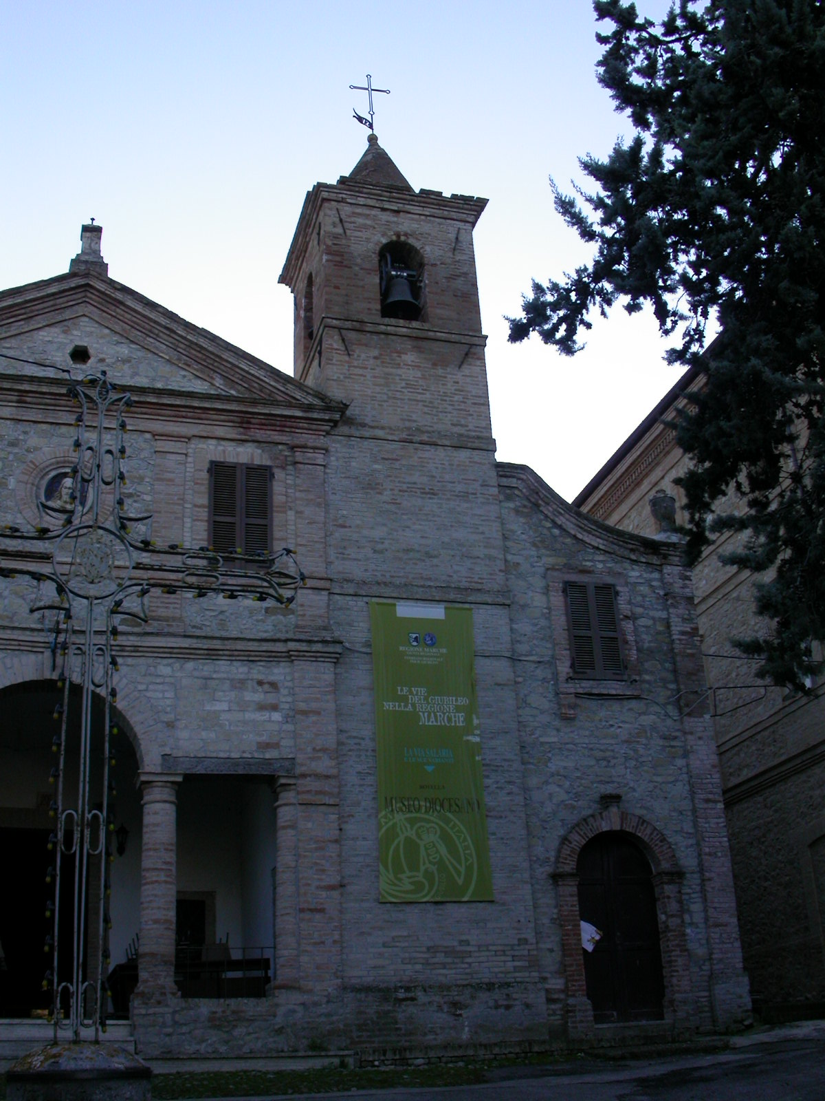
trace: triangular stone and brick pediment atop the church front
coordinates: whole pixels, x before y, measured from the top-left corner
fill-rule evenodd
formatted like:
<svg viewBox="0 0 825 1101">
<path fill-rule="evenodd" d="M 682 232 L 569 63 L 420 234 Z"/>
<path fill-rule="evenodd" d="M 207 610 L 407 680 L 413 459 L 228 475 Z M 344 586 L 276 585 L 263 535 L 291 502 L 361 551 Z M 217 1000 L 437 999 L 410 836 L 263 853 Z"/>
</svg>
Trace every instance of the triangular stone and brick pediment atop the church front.
<svg viewBox="0 0 825 1101">
<path fill-rule="evenodd" d="M 68 352 L 77 344 L 89 348 L 90 367 L 105 367 L 128 386 L 253 399 L 316 413 L 342 408 L 114 280 L 67 274 L 0 292 L 0 352 L 35 361 L 19 370 L 54 378 L 48 364 L 70 367 Z M 15 367 L 14 359 L 0 360 L 3 373 Z"/>
</svg>

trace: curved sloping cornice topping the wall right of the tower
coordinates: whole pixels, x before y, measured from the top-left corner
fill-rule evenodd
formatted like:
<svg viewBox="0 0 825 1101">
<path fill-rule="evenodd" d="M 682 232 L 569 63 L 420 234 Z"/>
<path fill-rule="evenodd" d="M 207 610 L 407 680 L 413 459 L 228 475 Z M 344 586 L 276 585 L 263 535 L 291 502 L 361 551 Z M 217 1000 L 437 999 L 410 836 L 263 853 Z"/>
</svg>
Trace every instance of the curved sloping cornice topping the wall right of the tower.
<svg viewBox="0 0 825 1101">
<path fill-rule="evenodd" d="M 530 467 L 498 462 L 496 468 L 501 487 L 516 490 L 543 515 L 583 543 L 632 562 L 658 566 L 683 564 L 681 543 L 666 543 L 646 535 L 634 535 L 595 520 L 568 504 Z"/>
</svg>

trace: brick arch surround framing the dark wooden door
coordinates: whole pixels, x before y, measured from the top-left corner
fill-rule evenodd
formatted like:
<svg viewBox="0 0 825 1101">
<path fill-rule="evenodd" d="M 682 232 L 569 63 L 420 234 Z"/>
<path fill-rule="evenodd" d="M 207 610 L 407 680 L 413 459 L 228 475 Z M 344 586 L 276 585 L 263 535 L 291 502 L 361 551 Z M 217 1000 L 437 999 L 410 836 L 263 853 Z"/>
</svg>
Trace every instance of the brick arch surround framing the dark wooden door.
<svg viewBox="0 0 825 1101">
<path fill-rule="evenodd" d="M 613 805 L 575 824 L 559 846 L 553 880 L 559 898 L 568 1034 L 571 1039 L 595 1035 L 593 1007 L 587 1000 L 579 914 L 579 853 L 598 833 L 619 830 L 629 836 L 650 861 L 664 979 L 664 1021 L 673 1036 L 693 1028 L 690 958 L 684 928 L 682 879 L 673 848 L 664 835 L 638 815 Z"/>
</svg>

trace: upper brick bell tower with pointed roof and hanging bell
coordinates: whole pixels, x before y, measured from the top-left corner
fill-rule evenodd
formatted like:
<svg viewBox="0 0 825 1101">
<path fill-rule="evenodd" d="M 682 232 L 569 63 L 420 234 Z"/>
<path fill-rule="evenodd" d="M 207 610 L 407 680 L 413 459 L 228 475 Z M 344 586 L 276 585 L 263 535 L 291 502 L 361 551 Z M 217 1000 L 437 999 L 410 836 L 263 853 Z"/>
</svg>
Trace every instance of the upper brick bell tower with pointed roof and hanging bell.
<svg viewBox="0 0 825 1101">
<path fill-rule="evenodd" d="M 492 449 L 472 238 L 485 206 L 415 192 L 372 133 L 349 176 L 308 193 L 280 274 L 295 377 L 348 402 L 358 430 Z"/>
</svg>

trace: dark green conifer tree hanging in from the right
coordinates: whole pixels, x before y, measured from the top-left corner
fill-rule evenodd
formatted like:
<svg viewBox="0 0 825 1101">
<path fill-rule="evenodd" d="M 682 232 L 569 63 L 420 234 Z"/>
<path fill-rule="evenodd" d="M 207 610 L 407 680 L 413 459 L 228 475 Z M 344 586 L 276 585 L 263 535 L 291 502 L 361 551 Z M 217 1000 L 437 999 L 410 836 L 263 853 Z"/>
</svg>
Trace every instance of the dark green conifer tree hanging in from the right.
<svg viewBox="0 0 825 1101">
<path fill-rule="evenodd" d="M 509 339 L 579 349 L 593 309 L 650 303 L 704 386 L 680 417 L 692 560 L 738 531 L 759 672 L 802 687 L 825 640 L 825 4 L 680 0 L 660 25 L 595 0 L 598 78 L 635 127 L 556 209 L 594 246 L 534 282 Z M 705 349 L 711 318 L 719 335 Z"/>
</svg>

